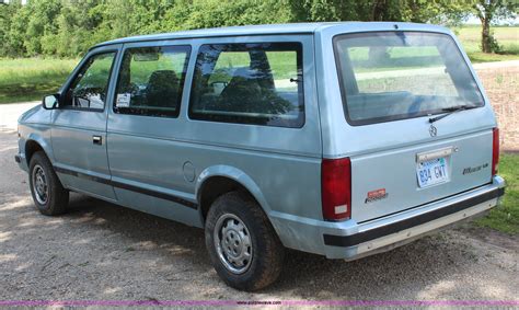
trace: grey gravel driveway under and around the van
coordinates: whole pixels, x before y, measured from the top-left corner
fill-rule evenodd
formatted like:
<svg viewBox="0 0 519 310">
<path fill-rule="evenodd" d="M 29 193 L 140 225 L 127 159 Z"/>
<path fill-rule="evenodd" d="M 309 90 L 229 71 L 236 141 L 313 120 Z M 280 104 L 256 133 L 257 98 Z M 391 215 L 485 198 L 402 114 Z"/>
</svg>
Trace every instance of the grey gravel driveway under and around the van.
<svg viewBox="0 0 519 310">
<path fill-rule="evenodd" d="M 13 160 L 18 146 L 12 118 L 30 105 L 0 105 L 0 300 L 519 296 L 519 239 L 471 226 L 350 263 L 289 252 L 280 280 L 247 294 L 218 278 L 199 229 L 81 195 L 71 196 L 67 215 L 42 216 L 31 200 L 26 174 Z"/>
</svg>

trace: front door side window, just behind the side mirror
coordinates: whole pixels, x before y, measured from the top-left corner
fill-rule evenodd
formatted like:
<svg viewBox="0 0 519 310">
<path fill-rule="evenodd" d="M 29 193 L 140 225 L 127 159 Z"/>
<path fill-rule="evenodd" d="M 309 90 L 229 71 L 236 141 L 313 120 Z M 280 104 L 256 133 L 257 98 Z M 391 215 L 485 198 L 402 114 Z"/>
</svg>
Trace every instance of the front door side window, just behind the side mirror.
<svg viewBox="0 0 519 310">
<path fill-rule="evenodd" d="M 73 108 L 104 110 L 115 51 L 92 56 L 65 93 L 62 105 Z"/>
</svg>

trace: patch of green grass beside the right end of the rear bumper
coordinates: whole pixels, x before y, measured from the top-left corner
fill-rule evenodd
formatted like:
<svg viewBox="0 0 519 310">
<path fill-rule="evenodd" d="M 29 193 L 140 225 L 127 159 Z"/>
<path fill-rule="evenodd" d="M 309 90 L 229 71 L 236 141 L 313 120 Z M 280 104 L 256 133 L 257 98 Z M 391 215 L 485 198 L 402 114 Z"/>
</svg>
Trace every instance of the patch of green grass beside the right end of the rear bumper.
<svg viewBox="0 0 519 310">
<path fill-rule="evenodd" d="M 499 174 L 507 182 L 503 205 L 476 221 L 477 226 L 489 227 L 506 233 L 519 233 L 519 154 L 501 154 Z"/>
</svg>

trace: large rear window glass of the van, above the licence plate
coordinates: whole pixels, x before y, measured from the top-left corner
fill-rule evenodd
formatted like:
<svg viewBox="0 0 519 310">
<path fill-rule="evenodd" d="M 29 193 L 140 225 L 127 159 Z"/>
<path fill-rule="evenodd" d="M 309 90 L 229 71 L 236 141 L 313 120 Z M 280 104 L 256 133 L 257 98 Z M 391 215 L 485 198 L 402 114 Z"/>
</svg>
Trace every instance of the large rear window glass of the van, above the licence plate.
<svg viewBox="0 0 519 310">
<path fill-rule="evenodd" d="M 339 35 L 334 48 L 346 118 L 365 125 L 483 105 L 454 41 L 446 34 Z"/>
</svg>

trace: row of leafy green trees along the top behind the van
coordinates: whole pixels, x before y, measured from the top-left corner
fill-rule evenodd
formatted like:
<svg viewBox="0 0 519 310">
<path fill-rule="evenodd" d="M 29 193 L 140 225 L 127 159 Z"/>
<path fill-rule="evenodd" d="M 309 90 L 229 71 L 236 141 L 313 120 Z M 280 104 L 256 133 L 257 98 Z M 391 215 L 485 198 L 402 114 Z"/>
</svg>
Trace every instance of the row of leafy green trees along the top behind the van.
<svg viewBox="0 0 519 310">
<path fill-rule="evenodd" d="M 491 22 L 514 14 L 505 0 L 11 0 L 0 4 L 0 57 L 78 57 L 92 45 L 130 35 L 230 25 L 403 21 L 483 24 L 484 51 L 498 48 Z M 486 26 L 486 28 L 485 28 Z"/>
</svg>

